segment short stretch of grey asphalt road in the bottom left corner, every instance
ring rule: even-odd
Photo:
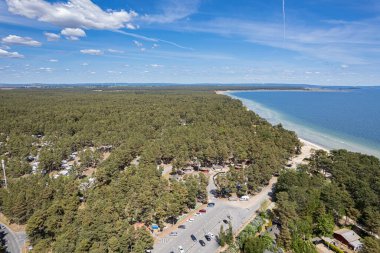
[[[6,246],[6,252],[20,253],[26,241],[25,233],[14,233],[4,224],[0,224],[0,237]]]

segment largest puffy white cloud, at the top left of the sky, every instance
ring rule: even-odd
[[[49,3],[44,0],[6,0],[8,10],[17,15],[59,27],[116,30],[133,29],[131,21],[137,16],[134,11],[102,10],[91,0],[69,0]]]

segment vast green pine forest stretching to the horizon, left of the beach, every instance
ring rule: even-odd
[[[202,173],[168,180],[158,165],[244,161],[249,166],[232,172],[228,187],[251,192],[299,146],[293,132],[207,90],[3,90],[1,212],[27,224],[34,252],[144,252],[153,245],[147,227],[207,201]],[[101,147],[112,147],[106,159]],[[74,153],[81,165],[53,177]],[[96,168],[91,177],[87,167]]]

